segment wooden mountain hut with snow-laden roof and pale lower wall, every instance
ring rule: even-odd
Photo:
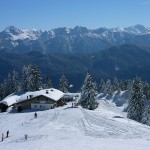
[[[1,101],[0,105],[3,106],[2,111],[6,111],[10,106],[14,106],[18,111],[25,109],[47,110],[63,105],[63,96],[63,92],[50,88],[9,95]]]

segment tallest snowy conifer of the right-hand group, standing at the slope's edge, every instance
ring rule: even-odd
[[[138,122],[141,121],[144,111],[144,99],[145,96],[143,94],[142,81],[138,77],[136,77],[133,80],[130,100],[128,104],[128,118],[136,120]]]

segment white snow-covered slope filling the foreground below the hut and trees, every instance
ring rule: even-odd
[[[99,100],[95,111],[71,108],[0,113],[0,150],[148,150],[150,127],[126,118],[113,103]],[[28,139],[25,140],[25,134]],[[1,136],[1,135],[0,135]]]

